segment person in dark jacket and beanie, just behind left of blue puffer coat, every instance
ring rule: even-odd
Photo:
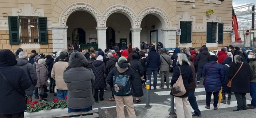
[[[203,80],[204,76],[202,76],[202,70],[206,63],[210,62],[210,53],[207,51],[207,47],[202,48],[202,52],[197,55],[197,84],[200,83],[200,80]],[[218,58],[217,58],[218,59]]]

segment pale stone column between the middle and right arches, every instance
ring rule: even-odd
[[[140,49],[140,31],[142,28],[131,28],[132,31],[132,47],[138,47]]]

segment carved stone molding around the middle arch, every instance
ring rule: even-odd
[[[115,12],[123,13],[125,16],[127,16],[128,19],[131,21],[132,28],[136,26],[137,16],[132,9],[124,5],[114,5],[114,6],[110,6],[109,8],[106,9],[106,11],[104,11],[103,17],[102,17],[102,27],[106,27],[106,20],[112,13],[115,13]]]

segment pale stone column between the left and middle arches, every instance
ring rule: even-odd
[[[102,50],[106,49],[106,29],[108,29],[108,27],[96,27],[98,48],[101,48]]]

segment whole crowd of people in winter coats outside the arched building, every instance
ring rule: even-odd
[[[72,44],[70,44],[72,46]],[[116,48],[117,47],[117,48]],[[72,48],[72,47],[71,47]],[[199,49],[184,48],[181,53],[180,48],[175,48],[174,54],[169,54],[163,48],[163,44],[158,42],[142,42],[140,48],[119,47],[118,44],[113,49],[94,48],[84,49],[76,47],[77,51],[69,53],[68,49],[58,52],[56,58],[51,55],[38,54],[35,50],[28,53],[19,48],[15,54],[10,50],[0,51],[0,80],[1,91],[0,105],[6,106],[3,102],[6,99],[15,101],[13,104],[20,104],[16,109],[12,107],[0,108],[0,116],[23,117],[26,110],[24,98],[28,100],[39,99],[47,101],[42,93],[54,94],[60,100],[66,99],[68,112],[92,110],[94,102],[104,101],[104,91],[112,91],[109,101],[116,102],[117,117],[124,117],[124,105],[130,118],[135,118],[133,102],[141,102],[143,88],[146,80],[150,80],[151,86],[156,90],[157,75],[160,75],[160,88],[172,88],[182,75],[183,85],[186,93],[183,95],[170,94],[175,96],[175,104],[178,117],[201,117],[195,98],[195,88],[203,80],[206,91],[206,109],[210,109],[211,96],[213,94],[214,110],[217,110],[219,91],[222,88],[222,101],[226,103],[225,94],[228,94],[227,103],[230,104],[231,94],[234,93],[237,99],[237,109],[246,110],[256,108],[256,50],[252,50],[247,55],[245,48],[222,47],[218,56],[210,55],[208,48],[204,45]],[[230,49],[230,50],[228,50]],[[16,55],[16,56],[15,56]],[[170,82],[169,74],[173,66],[174,72]],[[8,71],[7,71],[8,70]],[[10,70],[10,71],[9,71]],[[12,73],[16,73],[13,76]],[[153,82],[151,76],[153,73]],[[131,92],[127,94],[116,94],[119,88],[113,84],[113,76],[127,75]],[[244,76],[248,75],[248,76]],[[47,80],[50,80],[48,84]],[[232,80],[232,86],[227,86]],[[166,84],[164,84],[166,82]],[[10,88],[13,84],[15,88]],[[86,85],[86,86],[82,86]],[[49,90],[47,89],[49,87]],[[55,89],[57,91],[55,91]],[[121,89],[121,88],[120,88]],[[11,94],[10,94],[11,93]],[[250,93],[251,104],[246,105],[245,94]],[[32,95],[34,94],[34,98]],[[14,100],[19,99],[19,100]],[[190,106],[194,109],[191,115]]]

